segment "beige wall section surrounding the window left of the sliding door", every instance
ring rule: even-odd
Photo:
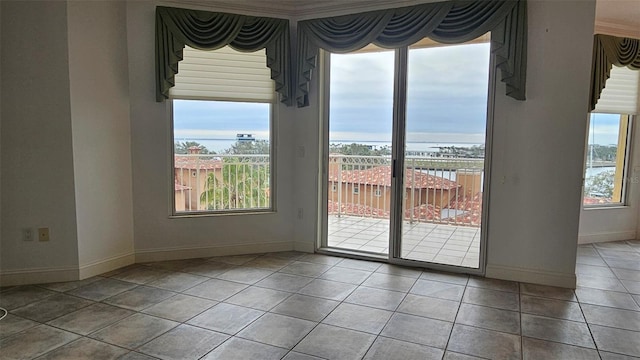
[[[252,215],[172,217],[169,102],[155,100],[155,1],[127,3],[136,261],[293,248],[294,112],[278,113],[277,211]],[[172,3],[172,5],[175,5]],[[189,7],[185,4],[184,7]],[[202,6],[200,7],[202,8]],[[224,11],[224,8],[211,8]]]

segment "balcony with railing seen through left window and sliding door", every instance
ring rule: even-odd
[[[177,213],[270,208],[269,156],[192,152],[175,156]],[[483,159],[408,156],[402,256],[477,267]],[[331,154],[328,246],[388,253],[391,158]]]

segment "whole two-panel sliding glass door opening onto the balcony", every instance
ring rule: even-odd
[[[324,249],[480,267],[489,54],[484,36],[325,58]]]

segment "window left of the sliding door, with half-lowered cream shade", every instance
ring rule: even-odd
[[[170,90],[174,213],[273,209],[273,81],[264,50],[185,48]]]

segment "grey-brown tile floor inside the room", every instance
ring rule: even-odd
[[[640,242],[580,246],[560,289],[296,252],[2,288],[0,358],[640,358]]]

